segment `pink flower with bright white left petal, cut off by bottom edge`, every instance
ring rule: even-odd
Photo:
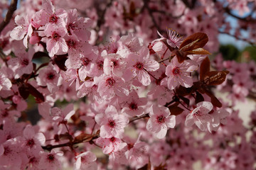
[[[76,159],[75,170],[78,170],[78,169],[97,170],[97,164],[95,162],[97,157],[92,152],[90,151],[82,152],[81,154],[78,154],[78,156],[76,156],[75,159]]]

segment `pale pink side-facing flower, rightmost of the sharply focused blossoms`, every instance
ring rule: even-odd
[[[208,113],[213,109],[213,104],[208,101],[202,101],[197,103],[196,106],[198,107],[186,116],[185,125],[192,126],[196,123],[196,126],[200,130],[204,131],[208,129],[211,132],[213,116]]]

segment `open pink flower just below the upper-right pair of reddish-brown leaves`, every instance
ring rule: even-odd
[[[193,60],[185,60],[179,63],[177,58],[174,57],[171,63],[166,67],[166,78],[161,81],[161,85],[167,84],[168,88],[173,90],[179,84],[186,88],[193,85],[191,72],[198,69],[198,64]]]

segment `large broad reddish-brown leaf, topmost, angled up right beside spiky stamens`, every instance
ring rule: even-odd
[[[194,33],[183,40],[179,49],[185,52],[192,51],[205,46],[207,42],[208,36],[206,33]]]

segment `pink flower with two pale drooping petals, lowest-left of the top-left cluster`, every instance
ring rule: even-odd
[[[49,25],[45,30],[46,36],[46,49],[49,52],[49,56],[63,55],[68,52],[68,45],[63,38],[67,30],[63,28],[58,28],[53,25]]]

